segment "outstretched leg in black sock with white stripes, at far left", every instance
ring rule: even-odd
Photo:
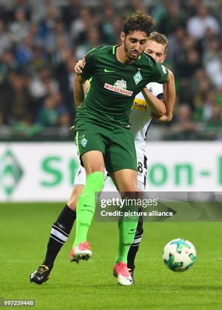
[[[30,275],[30,282],[42,284],[49,279],[56,256],[66,242],[73,223],[76,220],[77,200],[85,185],[85,181],[85,169],[80,166],[73,183],[70,198],[57,220],[52,225],[45,260],[42,265]]]

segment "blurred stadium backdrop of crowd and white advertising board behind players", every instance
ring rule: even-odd
[[[169,39],[177,92],[172,122],[147,135],[147,190],[221,190],[221,0],[0,0],[0,201],[67,199],[74,65],[120,44],[138,9]]]

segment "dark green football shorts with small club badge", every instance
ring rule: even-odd
[[[80,160],[84,153],[98,150],[103,153],[108,173],[121,169],[137,171],[134,135],[129,129],[82,118],[76,121],[75,138]]]

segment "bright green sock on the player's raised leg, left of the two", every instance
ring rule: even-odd
[[[87,232],[95,212],[95,192],[101,191],[103,184],[104,174],[102,172],[96,171],[86,177],[86,185],[77,202],[77,230],[73,248],[87,241]]]

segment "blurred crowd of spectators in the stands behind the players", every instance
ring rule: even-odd
[[[120,44],[136,10],[168,37],[177,91],[173,121],[155,123],[150,138],[222,139],[221,9],[221,0],[0,0],[0,139],[72,139],[75,63]]]

